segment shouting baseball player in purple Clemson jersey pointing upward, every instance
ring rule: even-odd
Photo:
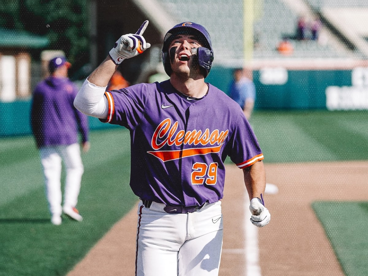
[[[130,186],[140,198],[136,275],[218,275],[224,160],[230,156],[243,169],[251,221],[262,227],[270,220],[262,201],[263,154],[240,106],[205,82],[213,50],[206,29],[194,22],[164,37],[169,80],[105,92],[121,62],[151,46],[142,36],[147,25],[117,40],[74,105],[130,130]]]

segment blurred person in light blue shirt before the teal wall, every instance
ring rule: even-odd
[[[236,68],[233,71],[229,96],[241,106],[245,117],[249,120],[254,108],[255,85],[250,78],[245,76],[243,68]]]

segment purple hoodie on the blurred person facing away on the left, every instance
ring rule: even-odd
[[[48,77],[33,91],[31,127],[38,148],[49,145],[71,145],[88,141],[87,116],[75,109],[78,92],[68,78]]]

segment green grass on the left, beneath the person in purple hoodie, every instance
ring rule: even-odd
[[[32,137],[0,139],[0,275],[65,275],[137,201],[129,187],[130,138],[91,132],[78,208],[81,223],[50,223]]]

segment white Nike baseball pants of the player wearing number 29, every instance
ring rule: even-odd
[[[221,201],[185,214],[163,204],[138,205],[137,276],[217,276],[222,250]]]

